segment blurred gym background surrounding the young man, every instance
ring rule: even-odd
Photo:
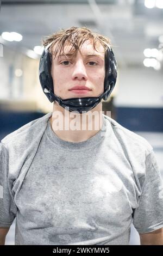
[[[3,0],[0,139],[52,111],[39,83],[41,41],[71,26],[86,26],[111,39],[118,78],[103,111],[151,143],[163,178],[162,0]],[[14,231],[12,224],[7,245],[14,244]],[[130,244],[140,244],[134,227]]]

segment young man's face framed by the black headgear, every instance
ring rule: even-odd
[[[52,60],[54,94],[61,99],[72,97],[97,97],[104,92],[105,52],[101,44],[96,51],[91,41],[85,41],[80,51],[70,53],[71,46],[64,48],[66,54]],[[55,50],[55,46],[54,49]]]

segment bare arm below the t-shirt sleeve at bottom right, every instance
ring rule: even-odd
[[[141,245],[163,245],[163,228],[139,235]]]

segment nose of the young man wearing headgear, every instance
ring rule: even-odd
[[[86,68],[82,60],[78,60],[74,65],[72,78],[73,80],[87,80]]]

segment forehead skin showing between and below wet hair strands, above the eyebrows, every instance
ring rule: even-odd
[[[96,48],[93,47],[93,42],[91,40],[85,41],[81,46],[80,46],[80,52],[82,55],[99,55],[103,56],[105,55],[105,49],[104,47],[100,44],[100,42],[96,42]],[[59,56],[59,51],[57,49],[57,45],[53,46],[53,52],[57,50],[57,56]],[[59,49],[60,50],[60,49]],[[63,50],[60,52],[60,54],[65,53],[68,54],[70,52],[75,52],[74,47],[72,47],[72,44],[66,43],[64,45]]]

